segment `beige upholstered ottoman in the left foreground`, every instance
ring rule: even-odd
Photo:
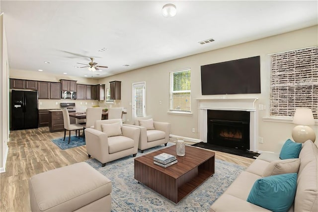
[[[110,212],[111,181],[85,162],[29,179],[32,212]]]

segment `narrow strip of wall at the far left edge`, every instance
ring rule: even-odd
[[[8,152],[8,54],[4,30],[4,15],[0,15],[0,172],[5,171],[5,161]]]

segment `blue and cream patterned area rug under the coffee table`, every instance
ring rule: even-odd
[[[174,145],[168,143],[168,146]],[[138,152],[137,157],[156,151],[164,146]],[[85,161],[112,181],[112,212],[207,212],[238,175],[245,170],[236,164],[215,159],[215,174],[178,204],[134,179],[134,157],[128,156],[106,163],[95,159]]]

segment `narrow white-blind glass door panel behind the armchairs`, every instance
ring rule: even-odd
[[[134,117],[143,117],[145,116],[145,84],[134,84]]]

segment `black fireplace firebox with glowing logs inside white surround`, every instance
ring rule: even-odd
[[[207,142],[235,149],[249,149],[249,111],[207,111]]]

